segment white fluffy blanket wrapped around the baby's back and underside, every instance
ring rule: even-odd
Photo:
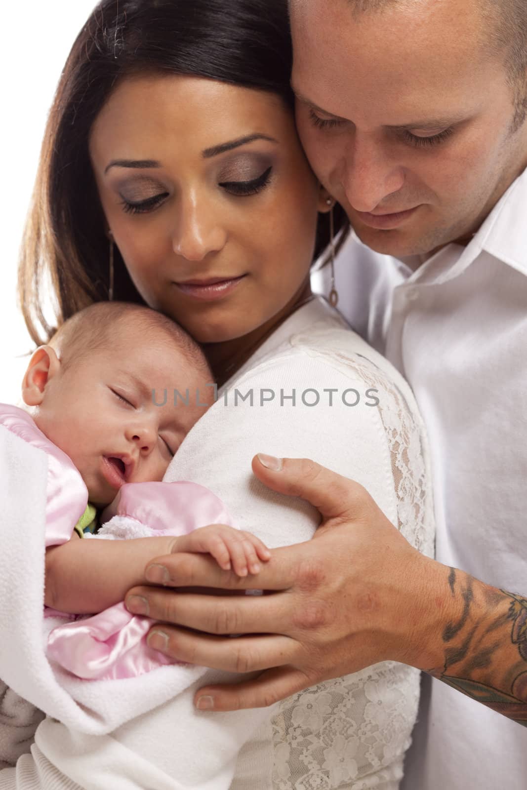
[[[51,666],[45,638],[62,621],[43,619],[46,481],[46,454],[0,427],[0,634],[9,634],[0,645],[0,678],[48,716],[103,735],[179,694],[205,669],[176,665],[88,683]]]

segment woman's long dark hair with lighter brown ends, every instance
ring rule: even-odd
[[[116,85],[145,73],[209,77],[275,93],[293,107],[287,0],[103,0],[73,44],[44,134],[25,229],[19,298],[29,333],[55,327],[40,294],[51,280],[61,325],[107,299],[108,239],[88,138]],[[333,209],[338,231],[348,220]],[[345,231],[344,231],[345,232]],[[315,259],[329,242],[321,215]],[[142,303],[115,250],[115,299]]]

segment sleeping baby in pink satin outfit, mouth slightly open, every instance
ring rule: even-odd
[[[146,645],[150,622],[119,603],[131,587],[145,583],[152,559],[175,551],[209,552],[240,576],[258,573],[259,562],[269,559],[266,547],[249,533],[209,526],[228,521],[212,492],[194,483],[156,482],[212,403],[211,382],[198,344],[169,318],[137,305],[98,303],[70,318],[32,355],[22,385],[25,410],[0,404],[0,430],[12,431],[48,456],[47,611],[101,612],[51,630],[51,657],[78,677],[139,675],[168,663]],[[175,390],[181,396],[176,400]],[[101,510],[102,521],[118,514],[101,530],[109,531],[107,538],[130,537],[130,524],[142,528],[139,534],[155,530],[156,536],[79,540],[92,537]],[[126,530],[112,535],[119,517]],[[96,618],[100,622],[90,636]],[[63,633],[71,628],[79,633]],[[120,656],[114,636],[126,628],[120,644],[128,652]],[[104,629],[110,647],[102,655]],[[94,674],[90,645],[98,651]],[[0,683],[0,768],[27,751],[42,716]]]

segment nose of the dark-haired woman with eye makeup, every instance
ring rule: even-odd
[[[172,240],[176,255],[187,261],[202,261],[209,253],[219,252],[227,233],[208,201],[192,196],[179,207],[179,220]]]

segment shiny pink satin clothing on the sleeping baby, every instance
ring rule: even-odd
[[[0,404],[0,425],[47,453],[46,547],[70,540],[74,526],[88,503],[88,490],[70,457],[59,450],[20,408]],[[183,535],[209,524],[231,524],[223,503],[197,483],[126,483],[111,506],[103,538]],[[112,531],[112,525],[115,529]],[[130,534],[127,534],[127,527]],[[97,537],[90,540],[99,540]],[[71,621],[72,615],[49,610],[48,615]],[[74,616],[74,615],[73,615]],[[146,634],[153,621],[131,615],[116,604],[98,615],[77,617],[51,631],[48,656],[73,675],[84,679],[137,677],[174,663],[149,648]]]

